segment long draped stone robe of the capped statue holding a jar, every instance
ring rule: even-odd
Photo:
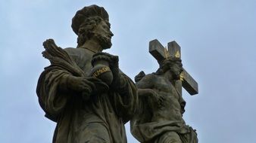
[[[83,48],[45,49],[43,55],[52,64],[40,75],[36,93],[45,117],[57,123],[53,142],[125,143],[124,124],[131,119],[137,106],[133,81],[121,74],[124,83],[119,90],[106,88],[105,92],[94,94],[85,101],[79,93],[62,92],[58,86],[63,76],[88,76],[94,53]]]

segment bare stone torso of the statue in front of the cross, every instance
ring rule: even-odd
[[[184,122],[180,105],[182,97],[164,75],[146,75],[136,85],[140,89],[154,90],[155,94],[148,96],[148,106],[152,112],[151,121],[179,120]]]

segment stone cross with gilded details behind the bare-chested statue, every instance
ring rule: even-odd
[[[149,53],[158,60],[158,63],[164,61],[168,56],[175,56],[177,58],[181,58],[180,46],[176,43],[176,41],[171,41],[168,43],[168,50],[164,48],[164,46],[157,40],[153,40],[149,42]],[[183,72],[180,75],[181,79],[176,81],[175,87],[176,90],[182,94],[182,87],[190,95],[198,94],[198,83],[189,75],[189,73],[183,68]]]

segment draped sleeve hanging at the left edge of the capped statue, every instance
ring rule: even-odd
[[[64,110],[70,100],[68,92],[62,92],[59,85],[69,73],[54,67],[45,68],[39,77],[36,93],[39,97],[39,104],[45,111],[45,117],[51,120],[58,120],[59,114]]]

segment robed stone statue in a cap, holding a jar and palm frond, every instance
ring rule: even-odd
[[[72,20],[76,48],[44,42],[42,53],[51,65],[36,88],[45,117],[57,123],[54,143],[126,142],[124,124],[138,106],[137,89],[118,68],[118,56],[103,53],[111,47],[108,13],[91,5]]]

